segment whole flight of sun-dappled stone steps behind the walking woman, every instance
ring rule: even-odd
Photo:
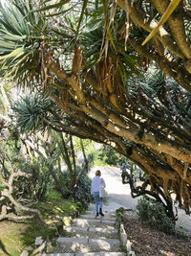
[[[41,256],[125,256],[118,240],[116,213],[107,212],[95,217],[93,210],[86,212],[72,224],[64,226],[65,237],[59,237],[53,252]]]

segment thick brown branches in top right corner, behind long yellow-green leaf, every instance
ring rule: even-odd
[[[187,91],[191,91],[189,33],[191,5],[189,1],[179,2],[180,5],[169,17],[167,23],[160,27],[159,33],[146,47],[142,47],[141,43],[145,39],[146,33],[151,32],[158,25],[159,17],[167,10],[169,1],[164,0],[160,3],[158,0],[149,2],[128,0],[131,25],[139,29],[139,36],[137,38],[130,36],[129,43],[141,58],[147,61],[156,61],[166,75],[172,77]],[[117,4],[126,10],[124,0],[117,0]]]

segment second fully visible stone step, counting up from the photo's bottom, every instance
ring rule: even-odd
[[[66,226],[64,230],[69,232],[69,237],[117,238],[117,229],[114,227]]]

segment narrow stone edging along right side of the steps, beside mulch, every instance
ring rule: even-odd
[[[120,244],[125,250],[127,250],[127,256],[136,256],[135,251],[132,250],[131,242],[127,238],[126,231],[124,229],[124,225],[122,223],[122,211],[120,208],[117,211],[117,228],[118,228],[118,237]],[[123,209],[124,210],[124,209]]]

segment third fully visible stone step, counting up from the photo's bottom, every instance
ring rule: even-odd
[[[95,219],[74,219],[73,220],[73,225],[78,225],[78,226],[114,226],[116,221],[107,221],[104,220],[104,218],[95,218]]]

